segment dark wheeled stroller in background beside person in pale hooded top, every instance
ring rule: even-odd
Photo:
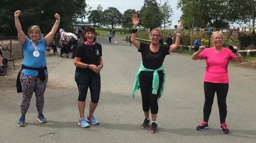
[[[76,48],[78,46],[78,40],[75,38],[71,38],[67,44],[65,52],[62,54],[63,58],[74,58],[76,55]]]

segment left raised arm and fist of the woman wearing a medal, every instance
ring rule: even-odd
[[[20,25],[20,20],[19,20],[19,16],[21,14],[20,10],[17,10],[14,12],[14,20],[15,20],[15,27],[18,31],[18,38],[19,38],[19,42],[21,45],[23,45],[26,41],[26,34],[22,31],[21,25]]]

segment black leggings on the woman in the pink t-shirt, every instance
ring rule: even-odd
[[[227,115],[226,97],[228,94],[228,83],[211,83],[204,81],[204,121],[208,122],[209,120],[215,92],[219,106],[219,118],[221,123],[224,123]]]

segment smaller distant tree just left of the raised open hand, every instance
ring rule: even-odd
[[[124,28],[129,27],[129,31],[130,31],[131,27],[133,26],[132,16],[135,13],[138,13],[138,11],[136,12],[135,9],[127,9],[126,11],[124,11],[123,20],[122,20],[122,27],[124,27]]]

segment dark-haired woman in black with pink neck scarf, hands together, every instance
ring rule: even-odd
[[[102,47],[96,43],[95,29],[87,27],[83,34],[85,41],[76,49],[74,65],[76,65],[75,81],[78,87],[78,110],[80,118],[78,125],[81,127],[89,127],[87,122],[98,124],[98,120],[94,118],[93,112],[98,105],[100,98],[100,71],[103,67]],[[88,87],[91,92],[91,103],[89,114],[84,117],[85,98]]]

